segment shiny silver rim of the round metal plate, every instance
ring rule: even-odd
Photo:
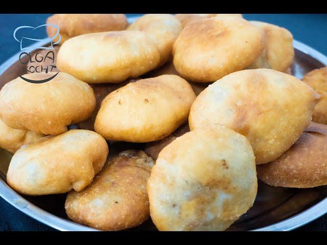
[[[129,22],[133,22],[139,16],[129,17]],[[45,45],[49,40],[39,41],[27,49],[27,52],[33,51],[38,46]],[[294,48],[297,50],[310,55],[316,60],[320,61],[323,65],[327,66],[327,57],[310,47],[307,44],[304,44],[300,41],[293,40]],[[2,65],[0,65],[0,76],[10,68],[19,57],[20,52],[13,55],[7,61],[5,61]],[[10,186],[6,184],[6,182],[0,179],[0,197],[6,200],[9,204],[17,208],[19,211],[27,214],[28,216],[38,220],[39,222],[48,225],[54,229],[59,231],[99,231],[97,229],[93,229],[87,226],[79,225],[77,223],[72,222],[71,220],[64,219],[58,217],[48,211],[45,211],[38,206],[32,204],[27,201],[25,198],[21,197],[18,192],[14,191]],[[298,227],[308,224],[313,220],[319,218],[323,214],[327,213],[327,197],[315,204],[314,206],[296,214],[289,218],[283,219],[280,222],[275,224],[265,226],[262,228],[249,230],[249,231],[290,231],[294,230]],[[303,219],[305,221],[303,221]]]

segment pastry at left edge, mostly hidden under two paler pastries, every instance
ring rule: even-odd
[[[0,148],[8,152],[15,153],[23,144],[34,143],[43,136],[29,130],[10,128],[0,120]]]

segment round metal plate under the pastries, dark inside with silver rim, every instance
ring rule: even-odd
[[[130,18],[129,22],[134,21]],[[44,45],[38,43],[37,45]],[[30,51],[35,49],[30,48]],[[294,40],[295,59],[292,75],[301,79],[308,71],[327,66],[327,57],[313,48]],[[19,54],[0,66],[0,88],[21,75]],[[115,143],[110,153],[125,149],[142,149],[143,144]],[[12,154],[0,149],[0,196],[11,205],[48,226],[61,231],[96,231],[68,220],[64,210],[66,194],[29,197],[20,195],[6,183],[6,173]],[[259,181],[254,205],[228,230],[288,231],[320,217],[327,212],[327,186],[309,189],[272,187]],[[156,230],[151,218],[130,230]]]

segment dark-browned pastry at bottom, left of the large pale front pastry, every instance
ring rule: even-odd
[[[105,231],[142,224],[150,215],[146,184],[153,165],[143,151],[124,151],[109,159],[89,186],[68,193],[68,217]]]

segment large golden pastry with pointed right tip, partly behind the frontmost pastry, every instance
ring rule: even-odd
[[[319,99],[310,86],[283,72],[234,72],[209,85],[192,105],[190,129],[224,125],[251,142],[256,164],[281,156],[311,121]]]

